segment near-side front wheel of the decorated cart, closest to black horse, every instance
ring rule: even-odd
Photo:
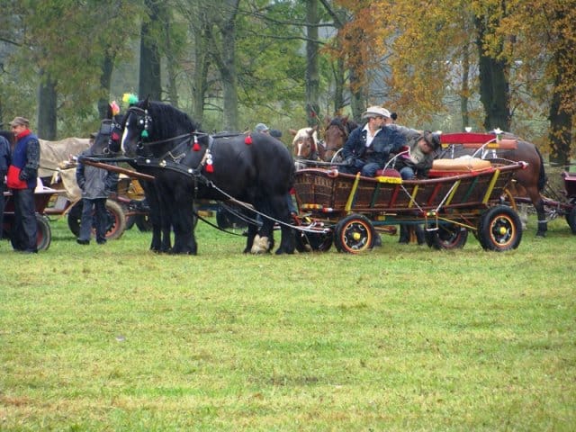
[[[338,252],[358,254],[374,246],[374,226],[361,214],[350,214],[340,220],[334,231],[334,244]]]

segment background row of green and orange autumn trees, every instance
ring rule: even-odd
[[[512,130],[570,161],[576,0],[0,0],[0,121],[87,136],[149,95],[204,130],[284,131],[368,104]],[[572,155],[573,156],[573,155]]]

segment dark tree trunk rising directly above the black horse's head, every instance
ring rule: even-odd
[[[158,4],[147,0],[149,21],[144,20],[140,31],[140,65],[138,95],[140,99],[149,96],[151,100],[159,101],[162,97],[162,79],[160,73],[160,54],[157,49],[157,35],[152,26],[159,19]]]

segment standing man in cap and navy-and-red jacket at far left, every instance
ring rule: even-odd
[[[16,145],[12,165],[8,167],[6,184],[14,196],[14,250],[25,253],[38,252],[36,242],[36,206],[34,189],[40,166],[40,142],[30,130],[30,121],[16,117],[10,122]]]

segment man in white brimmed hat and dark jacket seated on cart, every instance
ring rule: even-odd
[[[362,114],[365,123],[350,132],[342,156],[347,166],[340,171],[373,177],[382,169],[391,152],[397,151],[405,139],[401,133],[392,128],[390,112],[381,106],[371,106]]]

